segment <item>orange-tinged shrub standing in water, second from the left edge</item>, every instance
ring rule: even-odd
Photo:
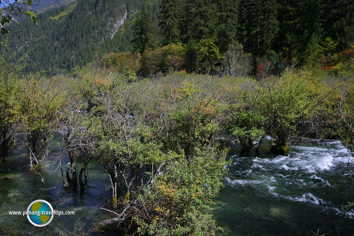
[[[40,168],[48,155],[52,131],[58,127],[59,110],[65,102],[64,87],[58,83],[49,83],[38,76],[23,80],[20,111],[30,170]]]

